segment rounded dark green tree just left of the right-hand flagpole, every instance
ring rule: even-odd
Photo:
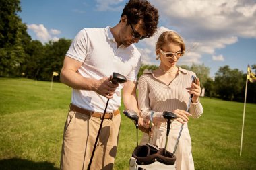
[[[214,87],[222,99],[233,101],[241,96],[245,83],[243,71],[230,69],[228,65],[220,67],[215,74]]]

